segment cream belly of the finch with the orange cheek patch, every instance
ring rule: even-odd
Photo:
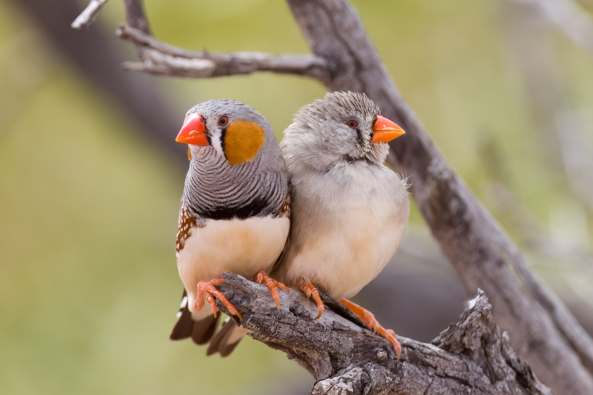
[[[220,278],[225,271],[253,280],[258,271],[269,271],[284,248],[289,225],[286,217],[251,217],[210,220],[205,227],[193,227],[177,254],[177,268],[194,319],[212,314],[210,309],[195,311],[199,281]]]

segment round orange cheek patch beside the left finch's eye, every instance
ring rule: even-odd
[[[256,123],[234,120],[224,136],[224,152],[229,165],[240,165],[256,157],[263,146],[266,131]]]

